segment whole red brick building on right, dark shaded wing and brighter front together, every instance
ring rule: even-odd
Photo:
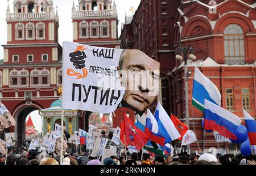
[[[157,26],[156,35],[151,34],[154,28],[144,19],[148,10],[150,15],[154,14],[150,10],[152,3],[155,18],[147,19],[156,22],[150,23]],[[201,149],[217,147],[217,144],[213,133],[206,133],[203,143],[203,113],[192,106],[193,67],[199,67],[217,85],[222,95],[222,108],[243,119],[243,107],[252,117],[256,117],[256,3],[253,0],[216,1],[215,8],[211,8],[212,4],[208,3],[209,1],[142,1],[132,22],[124,25],[121,35],[122,47],[142,49],[161,62],[162,74],[168,72],[164,78],[167,84],[162,84],[162,97],[167,99],[162,99],[164,108],[181,119],[185,118],[184,63],[175,60],[175,49],[177,46],[192,46],[195,49],[196,61],[188,61],[188,70],[192,72],[188,78],[189,124],[191,130],[195,125]],[[175,6],[173,10],[171,6]],[[165,8],[168,9],[164,10]],[[161,28],[164,15],[167,19],[170,18],[169,25],[164,28],[169,31],[168,35],[163,35]],[[145,27],[139,28],[139,24]],[[154,52],[147,50],[150,47],[146,45],[152,45],[152,41],[147,42],[147,36],[155,38],[155,49],[164,48],[161,41],[164,41],[164,36],[169,38],[166,40],[170,42],[168,45],[172,51],[165,53],[168,59],[161,59],[160,54],[156,57],[151,54]],[[162,42],[164,43],[167,42]],[[228,147],[228,144],[225,145]],[[192,149],[197,148],[196,143],[191,146]],[[220,147],[223,148],[224,144],[221,143]]]

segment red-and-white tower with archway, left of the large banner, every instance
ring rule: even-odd
[[[62,49],[53,0],[15,0],[13,5],[13,12],[9,5],[6,11],[7,45],[3,45],[0,65],[0,98],[17,123],[10,132],[24,143],[26,116],[48,108],[59,98]]]

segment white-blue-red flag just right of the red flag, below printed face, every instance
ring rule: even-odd
[[[147,109],[145,133],[150,140],[164,146],[164,136],[160,132],[158,122],[149,109]]]

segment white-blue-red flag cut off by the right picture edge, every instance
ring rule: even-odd
[[[256,121],[243,109],[243,115],[245,117],[245,124],[248,132],[248,137],[251,145],[256,145]]]

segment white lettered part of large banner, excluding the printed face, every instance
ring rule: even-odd
[[[63,42],[63,108],[115,111],[125,93],[117,71],[122,51]]]

